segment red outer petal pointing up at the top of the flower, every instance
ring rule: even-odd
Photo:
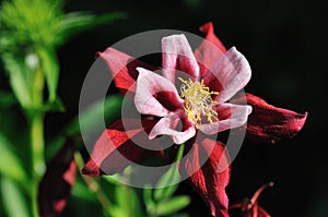
[[[203,76],[220,57],[226,52],[226,49],[215,36],[213,24],[211,22],[200,26],[199,29],[207,34],[204,40],[195,50],[195,57],[198,61],[201,75]]]

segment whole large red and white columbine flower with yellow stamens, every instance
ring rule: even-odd
[[[96,142],[83,172],[99,176],[101,167],[106,168],[106,173],[121,172],[128,164],[119,160],[118,152],[132,161],[159,155],[134,144],[133,137],[152,143],[156,136],[168,135],[176,144],[185,143],[189,150],[180,161],[179,172],[189,176],[189,183],[213,216],[229,216],[229,156],[224,144],[209,136],[247,128],[249,136],[273,142],[298,132],[306,113],[276,108],[249,94],[248,105],[242,105],[238,97],[232,98],[248,83],[249,64],[236,48],[226,51],[211,23],[200,29],[207,34],[206,40],[194,53],[184,35],[163,38],[161,75],[152,71],[154,68],[116,49],[98,53],[112,71],[116,87],[133,98],[137,110],[145,116],[141,124],[134,119],[112,124]],[[122,122],[128,122],[129,129]],[[140,133],[143,130],[147,135]],[[207,160],[201,164],[203,158]]]

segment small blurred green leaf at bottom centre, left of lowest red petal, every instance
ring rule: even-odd
[[[160,216],[171,215],[177,213],[188,206],[190,203],[189,196],[176,196],[168,201],[157,204],[156,214]]]

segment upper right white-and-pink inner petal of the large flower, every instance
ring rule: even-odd
[[[214,63],[203,80],[210,89],[220,93],[215,100],[221,104],[241,91],[250,80],[250,74],[248,61],[233,47]]]

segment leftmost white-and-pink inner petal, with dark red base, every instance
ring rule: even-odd
[[[138,68],[137,70],[139,71],[139,77],[137,80],[134,104],[140,113],[164,117],[171,112],[171,107],[165,108],[165,105],[183,106],[183,99],[179,98],[173,83],[145,69]],[[165,96],[169,96],[169,98],[156,98],[163,93],[165,93]]]

